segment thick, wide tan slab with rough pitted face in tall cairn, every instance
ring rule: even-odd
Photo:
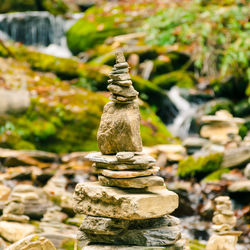
[[[98,182],[79,183],[74,193],[76,213],[118,219],[164,216],[178,207],[178,195],[166,188],[138,192],[105,187]]]

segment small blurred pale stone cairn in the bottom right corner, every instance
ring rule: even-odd
[[[215,198],[215,212],[212,230],[214,234],[208,241],[206,250],[234,250],[240,231],[232,231],[236,225],[236,217],[228,196]]]

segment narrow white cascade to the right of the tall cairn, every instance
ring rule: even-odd
[[[195,117],[198,105],[185,100],[181,96],[181,89],[176,86],[171,88],[167,94],[179,111],[173,123],[168,125],[168,129],[174,136],[184,139],[189,134],[191,122]]]

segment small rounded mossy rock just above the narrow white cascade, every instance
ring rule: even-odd
[[[173,86],[192,88],[195,85],[195,78],[192,73],[179,70],[157,76],[153,79],[153,83],[167,90],[171,89]]]

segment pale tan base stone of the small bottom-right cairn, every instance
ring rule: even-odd
[[[233,235],[212,235],[209,239],[206,250],[235,250],[237,236]]]

